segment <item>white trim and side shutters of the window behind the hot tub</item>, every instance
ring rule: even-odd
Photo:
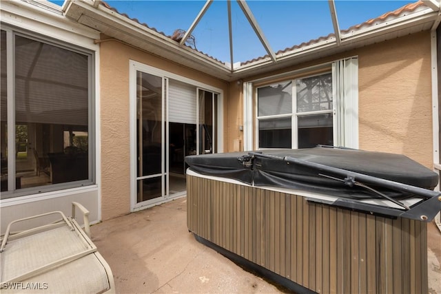
[[[331,68],[333,75],[333,96],[334,96],[334,109],[332,110],[334,114],[334,145],[340,147],[349,147],[353,149],[358,149],[358,57],[353,56],[347,59],[340,59],[331,63],[325,63],[321,65],[316,65],[313,67],[306,67],[301,70],[295,70],[292,72],[286,72],[283,74],[278,74],[275,76],[268,76],[266,78],[259,78],[256,80],[248,81],[243,83],[243,147],[244,151],[252,151],[254,149],[258,149],[258,119],[257,116],[253,119],[253,114],[257,113],[257,103],[255,105],[255,109],[252,107],[253,101],[257,99],[257,92],[254,93],[254,83],[261,83],[268,81],[271,84],[271,80],[275,80],[278,78],[287,77],[294,75],[305,74],[308,76],[308,72],[312,72],[314,70]],[[310,75],[309,75],[310,76]],[[338,92],[336,80],[340,81],[338,83]],[[295,85],[293,85],[295,87]],[[341,90],[340,90],[341,88]],[[295,88],[294,88],[295,90]],[[294,91],[293,90],[293,91]],[[336,98],[338,94],[338,98]],[[342,99],[344,98],[344,99]],[[339,100],[342,105],[336,105],[336,102]],[[294,112],[294,99],[293,99],[293,114]],[[342,107],[344,111],[338,109],[338,107]],[[337,121],[338,119],[338,121]],[[293,115],[292,118],[292,126],[297,127],[297,116]],[[339,123],[340,127],[336,125]],[[253,127],[256,126],[254,132],[254,138],[256,138],[256,142],[253,144]],[[339,132],[336,132],[336,131]],[[341,132],[340,132],[341,131]],[[293,132],[294,138],[292,138],[292,146],[297,147],[297,130]],[[295,134],[294,134],[295,133]]]

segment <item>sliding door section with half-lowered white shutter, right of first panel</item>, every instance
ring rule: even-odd
[[[172,80],[169,92],[167,180],[168,192],[174,196],[185,193],[185,156],[217,152],[218,95]]]

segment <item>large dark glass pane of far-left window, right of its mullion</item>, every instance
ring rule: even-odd
[[[88,180],[89,56],[15,36],[19,187]]]

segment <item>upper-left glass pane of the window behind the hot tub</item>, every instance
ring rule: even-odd
[[[290,114],[292,112],[292,83],[277,83],[257,89],[258,116]]]

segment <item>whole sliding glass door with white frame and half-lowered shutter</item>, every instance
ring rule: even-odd
[[[218,151],[218,94],[155,71],[135,72],[132,205],[138,209],[184,195],[185,156]]]

